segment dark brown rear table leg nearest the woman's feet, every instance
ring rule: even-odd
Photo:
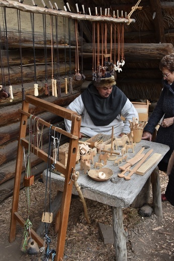
[[[152,183],[152,192],[153,192],[153,211],[156,216],[163,217],[158,167],[156,167],[151,174],[151,183]]]

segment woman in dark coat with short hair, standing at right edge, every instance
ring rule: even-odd
[[[144,128],[142,139],[151,141],[152,134],[155,131],[155,126],[163,117],[155,138],[155,142],[162,143],[170,147],[170,150],[166,153],[166,155],[158,164],[159,170],[166,171],[169,158],[174,150],[174,53],[170,55],[165,55],[161,59],[159,69],[162,72],[163,89],[156,104],[156,107],[154,108],[152,114],[149,117],[148,123]],[[162,200],[166,200],[165,195],[163,195]]]

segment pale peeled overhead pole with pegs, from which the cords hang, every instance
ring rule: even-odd
[[[62,10],[54,10],[50,8],[41,8],[36,6],[29,6],[25,4],[21,4],[17,1],[7,1],[7,0],[0,0],[0,7],[6,8],[13,8],[18,9],[23,12],[28,13],[36,13],[36,14],[45,14],[57,17],[66,17],[75,20],[88,20],[93,22],[110,22],[110,23],[122,23],[122,24],[130,24],[135,23],[135,19],[127,19],[127,18],[114,18],[114,17],[107,17],[107,16],[90,16],[84,14],[74,14]]]

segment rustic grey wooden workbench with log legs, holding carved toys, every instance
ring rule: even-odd
[[[127,160],[134,157],[142,148],[142,146],[150,147],[148,149],[144,149],[143,153],[146,153],[150,149],[153,149],[153,152],[150,156],[152,156],[154,153],[159,153],[161,154],[161,158],[169,150],[169,147],[166,145],[142,140],[140,143],[136,144],[134,153],[132,153],[131,150],[128,152]],[[99,154],[94,157],[94,163],[98,161],[98,159]],[[132,202],[140,194],[150,175],[153,192],[153,210],[157,216],[162,217],[160,180],[159,171],[157,168],[157,164],[160,160],[161,159],[159,159],[153,165],[153,167],[151,167],[150,170],[146,172],[143,176],[133,174],[130,180],[119,178],[118,173],[121,173],[121,171],[119,170],[118,165],[114,166],[114,161],[108,161],[105,167],[111,168],[113,170],[112,179],[114,178],[115,183],[112,182],[112,179],[104,182],[95,181],[91,179],[88,174],[83,174],[83,170],[80,170],[80,163],[76,164],[75,171],[79,171],[80,173],[77,182],[81,187],[84,198],[92,199],[103,204],[112,206],[113,230],[117,261],[127,261],[127,235],[123,228],[123,208],[128,207],[132,204]],[[124,164],[125,161],[123,161],[123,163],[119,166],[122,166]],[[94,169],[94,165],[91,166],[91,169]],[[44,182],[46,179],[46,173],[46,171],[44,171],[43,173]],[[55,188],[56,190],[63,191],[64,178],[52,172],[51,186],[52,189]],[[72,189],[72,194],[78,194],[75,188]]]

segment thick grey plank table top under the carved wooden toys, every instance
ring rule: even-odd
[[[147,153],[150,149],[153,149],[151,157],[154,153],[161,154],[161,159],[169,150],[169,147],[163,144],[149,142],[141,140],[140,143],[137,143],[134,147],[134,153],[131,150],[127,153],[128,159],[133,158],[137,152],[142,148],[142,146],[149,146],[150,148],[144,149],[143,153]],[[148,157],[148,159],[149,159]],[[98,162],[99,154],[94,157],[94,163]],[[147,159],[147,160],[148,160]],[[89,177],[88,174],[84,174],[83,170],[80,170],[80,163],[76,164],[75,171],[79,171],[80,175],[77,180],[78,185],[81,187],[82,194],[84,198],[89,198],[98,202],[101,202],[106,205],[125,208],[131,205],[136,196],[139,194],[147,179],[151,175],[154,168],[160,162],[159,159],[153,167],[150,168],[143,176],[133,174],[130,180],[125,180],[124,178],[119,178],[118,174],[121,173],[119,166],[123,166],[126,162],[123,161],[119,166],[114,166],[114,161],[107,161],[105,167],[111,168],[113,170],[112,178],[115,179],[116,183],[112,182],[112,179],[107,181],[95,181]],[[134,168],[136,165],[132,166]],[[91,169],[94,169],[94,165],[91,165]],[[47,171],[43,172],[43,181],[46,180]],[[126,174],[127,175],[127,174]],[[51,189],[56,189],[63,191],[64,178],[60,175],[57,175],[51,172]],[[78,194],[73,186],[72,194]]]

